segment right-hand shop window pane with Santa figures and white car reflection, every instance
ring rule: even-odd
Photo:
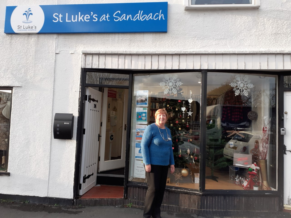
[[[207,73],[205,189],[277,190],[276,83]]]

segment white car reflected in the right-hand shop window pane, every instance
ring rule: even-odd
[[[262,133],[253,133],[250,131],[239,131],[224,146],[223,156],[233,160],[233,154],[253,154],[255,146],[258,146]]]

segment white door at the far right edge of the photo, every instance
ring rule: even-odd
[[[284,144],[291,151],[291,92],[284,92]],[[279,133],[280,134],[280,133]],[[286,151],[284,155],[284,207],[291,209],[291,153]]]

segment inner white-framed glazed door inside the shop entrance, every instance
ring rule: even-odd
[[[125,167],[128,89],[104,88],[98,172]]]

